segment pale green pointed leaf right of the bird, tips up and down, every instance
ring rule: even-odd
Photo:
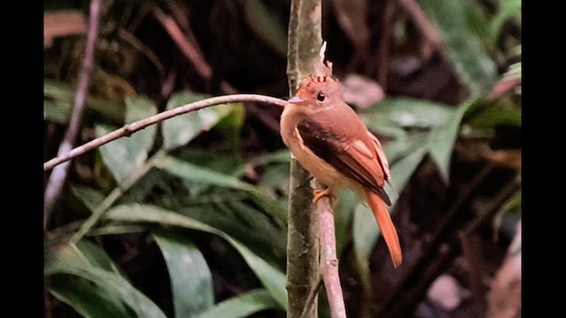
[[[444,182],[448,182],[448,172],[450,170],[450,159],[458,132],[460,131],[460,123],[463,115],[470,107],[472,102],[463,102],[452,118],[446,125],[441,125],[432,129],[428,137],[428,148],[432,156],[432,160],[439,167],[440,177]]]

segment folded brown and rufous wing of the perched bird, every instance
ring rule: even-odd
[[[301,134],[304,146],[346,177],[377,193],[387,205],[391,205],[383,189],[389,178],[389,167],[379,140],[371,138],[371,133],[367,133],[357,116],[356,119],[343,118],[342,125],[320,124],[336,120],[336,117],[330,118],[333,115],[320,113],[317,114],[317,120],[302,118],[297,131]]]

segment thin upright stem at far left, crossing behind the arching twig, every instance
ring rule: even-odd
[[[74,142],[77,139],[77,135],[80,131],[80,120],[82,118],[82,113],[84,110],[85,98],[88,90],[88,82],[90,80],[90,71],[95,64],[95,45],[96,38],[98,37],[98,24],[102,6],[101,3],[101,0],[92,0],[90,2],[87,47],[85,48],[85,58],[82,61],[82,67],[80,69],[79,87],[77,88],[77,93],[75,95],[73,114],[71,115],[71,119],[69,120],[69,127],[67,128],[63,142],[61,143],[57,151],[58,155],[65,154],[73,148]],[[55,202],[57,201],[57,198],[61,194],[61,190],[65,185],[68,171],[69,163],[65,163],[64,165],[51,172],[50,179],[47,183],[43,197],[44,230],[47,229],[47,225],[50,221],[51,211],[53,210]]]

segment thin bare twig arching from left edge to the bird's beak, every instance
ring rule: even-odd
[[[66,161],[69,161],[78,155],[85,154],[88,151],[98,148],[113,140],[117,140],[125,136],[130,136],[132,133],[138,132],[149,125],[154,125],[159,122],[162,122],[165,119],[186,114],[187,112],[200,110],[205,107],[210,107],[213,105],[218,105],[223,103],[231,103],[231,102],[263,102],[263,103],[270,103],[279,106],[285,106],[285,104],[287,103],[287,101],[281,100],[279,98],[265,96],[265,95],[255,95],[255,94],[225,95],[225,96],[207,98],[205,100],[198,102],[191,102],[188,103],[187,105],[183,105],[174,108],[172,110],[166,110],[157,115],[147,117],[142,120],[138,120],[132,124],[124,125],[122,128],[119,128],[111,133],[105,134],[100,138],[96,138],[96,140],[91,140],[80,147],[74,148],[73,150],[67,152],[64,155],[59,155],[57,156],[57,158],[53,158],[47,163],[43,163],[43,170],[50,170],[53,167],[55,167],[57,164],[65,163]]]

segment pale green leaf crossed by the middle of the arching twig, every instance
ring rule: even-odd
[[[126,123],[128,124],[155,115],[156,112],[155,104],[147,98],[138,97],[126,101]],[[96,136],[101,137],[114,130],[108,125],[96,125]],[[100,148],[103,162],[119,184],[142,168],[148,158],[149,148],[153,145],[155,133],[155,125],[150,125],[128,138],[114,140]]]

